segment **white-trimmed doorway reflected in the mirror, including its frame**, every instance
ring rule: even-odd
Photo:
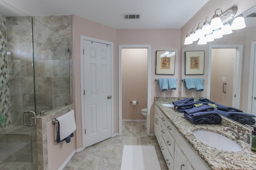
[[[210,45],[208,96],[240,108],[242,45]]]

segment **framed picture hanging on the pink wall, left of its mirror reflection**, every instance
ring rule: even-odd
[[[156,74],[174,75],[175,51],[156,51]]]

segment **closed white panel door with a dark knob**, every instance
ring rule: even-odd
[[[86,147],[111,137],[111,45],[84,40]]]

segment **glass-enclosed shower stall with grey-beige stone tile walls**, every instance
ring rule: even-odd
[[[0,14],[0,30],[0,169],[37,169],[35,116],[72,103],[71,16]]]

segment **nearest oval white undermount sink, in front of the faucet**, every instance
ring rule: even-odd
[[[193,132],[194,137],[211,147],[220,150],[226,150],[230,152],[239,152],[242,147],[238,145],[235,141],[232,141],[228,137],[214,133],[212,131],[198,130]]]

